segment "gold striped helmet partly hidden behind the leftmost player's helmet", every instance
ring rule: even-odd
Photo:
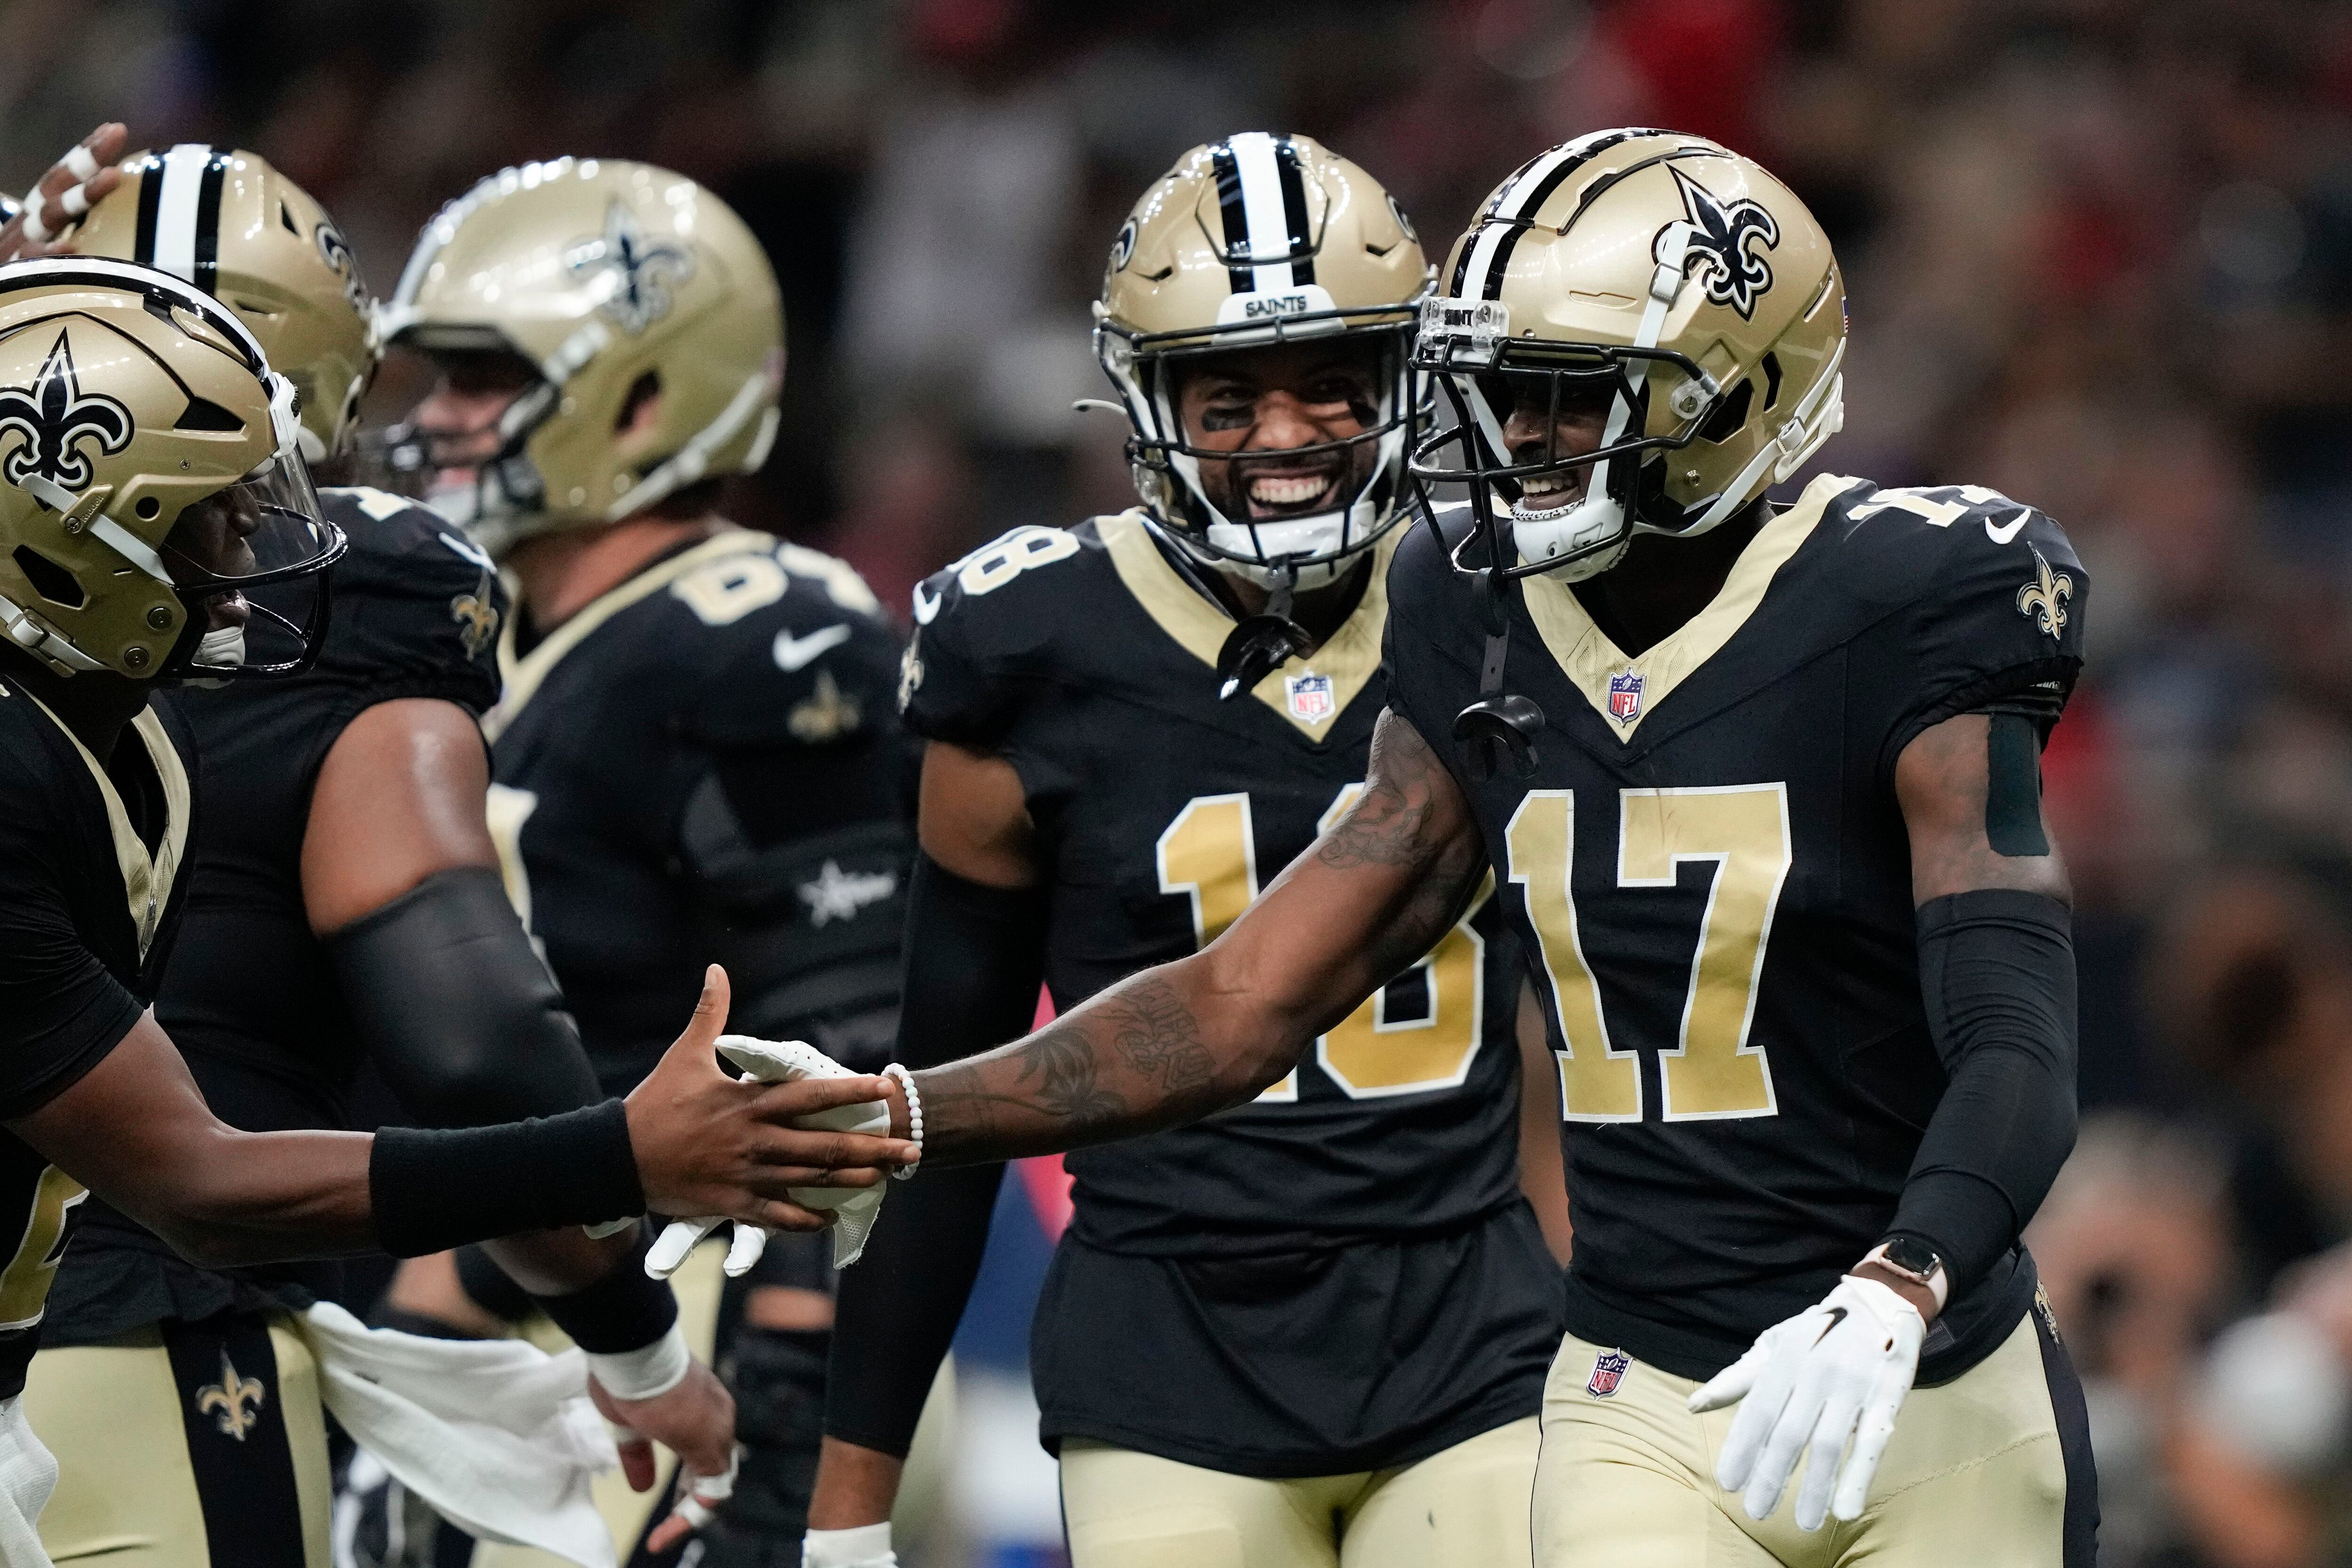
[[[301,393],[303,456],[343,451],[381,357],[376,306],[343,230],[268,160],[202,143],[132,153],[68,244],[162,268],[235,310]]]

